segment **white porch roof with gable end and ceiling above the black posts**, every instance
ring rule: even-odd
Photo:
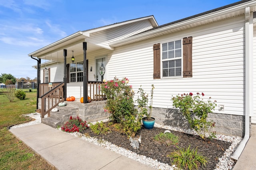
[[[63,61],[63,49],[67,49],[68,56],[72,56],[72,50],[74,51],[74,56],[82,55],[82,43],[85,41],[87,42],[87,52],[96,51],[101,48],[114,50],[113,47],[109,46],[109,43],[157,26],[158,23],[154,16],[146,16],[85,31],[78,31],[46,47],[38,49],[28,54],[28,56],[46,60]],[[126,30],[126,27],[132,29]],[[104,36],[106,34],[108,34],[108,36]]]

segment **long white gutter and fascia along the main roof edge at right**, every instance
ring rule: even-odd
[[[229,8],[225,8],[223,10],[219,10],[219,11],[216,11],[216,12],[212,12],[210,14],[206,14],[206,15],[199,16],[199,17],[196,17],[196,18],[192,18],[190,20],[181,21],[179,23],[174,23],[174,24],[168,25],[166,27],[161,27],[161,28],[158,28],[158,29],[154,29],[152,31],[148,31],[148,32],[145,32],[145,33],[134,35],[132,37],[128,37],[126,39],[122,39],[122,40],[110,43],[109,45],[114,46],[114,45],[117,45],[119,43],[125,43],[126,41],[132,41],[134,39],[139,39],[141,37],[154,35],[156,33],[160,33],[162,31],[166,31],[166,30],[169,30],[169,29],[174,29],[174,28],[177,28],[177,27],[182,27],[184,25],[188,25],[188,24],[208,20],[208,19],[215,18],[215,17],[218,17],[218,16],[223,16],[225,14],[236,12],[238,10],[244,10],[245,7],[251,6],[251,5],[256,6],[255,1],[249,1],[249,2],[246,2],[244,4],[239,4],[237,6],[232,6],[232,7],[229,7]]]

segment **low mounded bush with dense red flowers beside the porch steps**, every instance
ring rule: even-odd
[[[65,132],[80,132],[88,128],[86,121],[82,121],[78,116],[73,118],[70,116],[69,120],[61,127]]]

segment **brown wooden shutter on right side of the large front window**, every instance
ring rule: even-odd
[[[192,37],[183,38],[183,77],[192,77]]]

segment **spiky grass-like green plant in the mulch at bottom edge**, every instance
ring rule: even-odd
[[[198,153],[197,148],[191,150],[190,145],[186,149],[178,147],[178,150],[171,152],[168,157],[170,157],[172,164],[183,170],[198,170],[200,166],[206,167],[209,160],[206,156]]]

